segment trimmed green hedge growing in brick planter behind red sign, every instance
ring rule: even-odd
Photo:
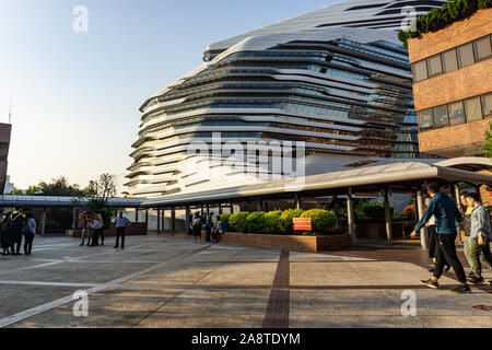
[[[311,218],[314,233],[329,233],[336,224],[333,212],[312,209],[288,209],[270,212],[238,212],[235,214],[222,214],[221,221],[227,222],[230,230],[239,233],[266,233],[266,234],[292,234],[292,219]]]

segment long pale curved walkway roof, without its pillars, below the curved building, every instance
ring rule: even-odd
[[[298,192],[324,192],[328,195],[337,191],[347,192],[352,187],[363,190],[378,191],[390,187],[409,192],[424,180],[441,179],[448,183],[473,183],[492,185],[492,175],[476,173],[470,170],[485,170],[492,167],[492,161],[481,158],[460,158],[425,162],[395,162],[384,165],[368,165],[353,170],[312,175],[302,178],[267,182],[256,185],[246,185],[201,191],[197,194],[166,196],[160,199],[147,200],[143,207],[183,206],[199,202],[213,202],[246,197],[261,197],[271,195],[285,195]],[[413,187],[413,188],[412,188]]]

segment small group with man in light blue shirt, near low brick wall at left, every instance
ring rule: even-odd
[[[80,246],[85,245],[85,237],[87,238],[87,247],[94,247],[104,245],[104,222],[103,217],[99,213],[92,213],[83,211],[79,214],[79,220],[82,224],[82,234]],[[121,240],[121,249],[125,249],[125,228],[130,222],[122,215],[122,212],[114,220],[116,224],[116,245],[114,248],[119,247],[119,241]]]

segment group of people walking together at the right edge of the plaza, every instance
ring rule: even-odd
[[[476,192],[460,194],[464,206],[462,212],[455,201],[446,194],[446,186],[431,183],[426,187],[427,208],[422,219],[417,223],[412,237],[417,236],[424,226],[427,228],[429,256],[434,262],[430,269],[433,276],[421,283],[438,289],[438,279],[445,267],[453,267],[460,285],[453,290],[456,293],[469,293],[469,284],[483,282],[481,276],[481,261],[492,266],[492,254],[490,252],[490,240],[492,238],[489,211],[482,206],[480,195]],[[465,231],[465,256],[471,266],[471,272],[467,276],[459,261],[455,241],[458,234],[459,223],[464,222]]]

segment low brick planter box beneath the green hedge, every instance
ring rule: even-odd
[[[290,236],[227,232],[222,235],[220,243],[317,253],[328,249],[350,248],[352,240],[349,234],[332,236]]]

